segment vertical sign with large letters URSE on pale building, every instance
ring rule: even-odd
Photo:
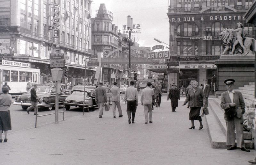
[[[52,38],[59,38],[60,30],[58,27],[60,26],[60,0],[53,0],[52,3]]]

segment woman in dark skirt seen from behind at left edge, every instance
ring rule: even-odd
[[[0,95],[0,143],[3,142],[2,132],[4,131],[4,142],[7,142],[7,132],[12,130],[10,106],[12,104],[12,97],[8,94],[8,87],[3,87],[3,94]]]

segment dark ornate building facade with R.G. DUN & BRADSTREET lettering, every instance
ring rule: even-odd
[[[170,83],[212,82],[217,73],[213,63],[224,50],[220,32],[236,29],[241,22],[246,36],[255,37],[254,27],[244,18],[250,5],[252,0],[170,0],[170,61],[180,63],[179,72],[170,73]]]

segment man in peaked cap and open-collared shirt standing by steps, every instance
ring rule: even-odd
[[[220,106],[225,111],[231,107],[235,107],[236,109],[235,117],[228,119],[226,115],[224,115],[227,125],[227,150],[233,150],[236,149],[236,147],[240,147],[242,151],[250,152],[250,150],[246,149],[244,145],[243,114],[245,112],[245,104],[242,93],[233,90],[235,80],[227,79],[224,81],[224,83],[226,84],[228,91],[221,94]]]

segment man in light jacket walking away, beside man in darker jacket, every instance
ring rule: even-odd
[[[122,115],[122,109],[121,109],[121,104],[120,104],[120,88],[118,88],[116,86],[116,82],[113,83],[114,86],[110,89],[111,93],[112,93],[112,111],[113,111],[113,116],[114,118],[116,118],[116,106],[118,109],[118,114],[119,114],[119,118],[123,117]]]

